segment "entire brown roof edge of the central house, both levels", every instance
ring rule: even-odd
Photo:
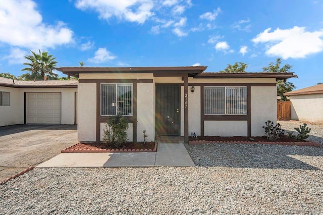
[[[59,67],[56,70],[64,74],[79,77],[80,73],[154,73],[154,74],[181,74],[188,73],[194,78],[276,78],[286,80],[297,77],[294,73],[214,73],[204,72],[206,66],[187,67]]]

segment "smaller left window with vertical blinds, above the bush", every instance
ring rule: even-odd
[[[132,84],[101,84],[101,115],[132,115]]]

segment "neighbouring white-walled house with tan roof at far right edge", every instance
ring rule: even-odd
[[[323,122],[323,84],[284,93],[292,102],[292,120]]]

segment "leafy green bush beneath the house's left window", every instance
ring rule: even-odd
[[[109,117],[105,123],[103,141],[112,147],[121,147],[128,140],[127,128],[128,122],[121,115]]]

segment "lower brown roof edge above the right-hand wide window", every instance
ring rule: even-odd
[[[276,80],[286,80],[288,78],[297,78],[294,73],[264,73],[264,72],[246,72],[246,73],[208,73],[203,72],[194,78],[276,78]]]

